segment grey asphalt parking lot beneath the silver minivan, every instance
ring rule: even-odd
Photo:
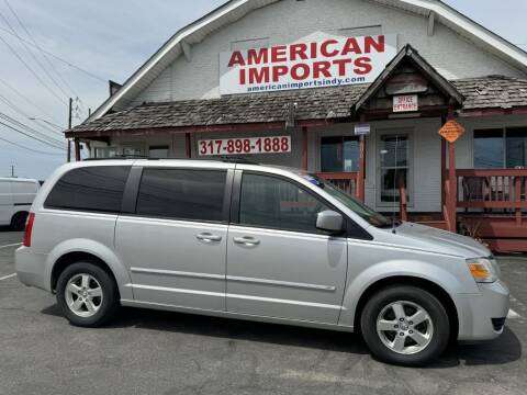
[[[0,229],[0,394],[525,394],[527,257],[502,256],[513,318],[504,335],[458,345],[434,365],[374,361],[359,337],[127,308],[76,328],[55,298],[23,286]]]

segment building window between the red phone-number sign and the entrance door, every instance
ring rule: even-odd
[[[321,170],[323,172],[359,171],[359,150],[357,137],[323,137]]]

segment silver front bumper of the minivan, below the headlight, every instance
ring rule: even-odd
[[[457,295],[458,340],[491,340],[503,332],[504,327],[496,326],[496,319],[503,319],[508,314],[508,287],[501,281],[478,286],[479,294]]]

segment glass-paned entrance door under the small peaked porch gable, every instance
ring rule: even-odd
[[[403,184],[407,200],[412,198],[411,150],[408,134],[386,134],[380,137],[380,167],[378,204],[390,206],[399,204],[400,185]],[[397,205],[399,207],[399,205]]]

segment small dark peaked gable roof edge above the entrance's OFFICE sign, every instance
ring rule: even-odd
[[[372,95],[374,95],[379,89],[381,89],[381,87],[389,80],[397,67],[406,59],[410,59],[413,65],[423,74],[423,76],[431,81],[442,94],[447,95],[449,99],[452,99],[458,106],[463,104],[464,97],[456,89],[456,87],[439,72],[437,72],[437,70],[430,64],[428,64],[415,48],[412,47],[412,45],[406,44],[404,48],[401,49],[393,58],[393,60],[388,64],[381,75],[370,84],[365,93],[362,93],[361,98],[357,101],[357,103],[355,103],[354,111],[359,111],[360,108]]]

